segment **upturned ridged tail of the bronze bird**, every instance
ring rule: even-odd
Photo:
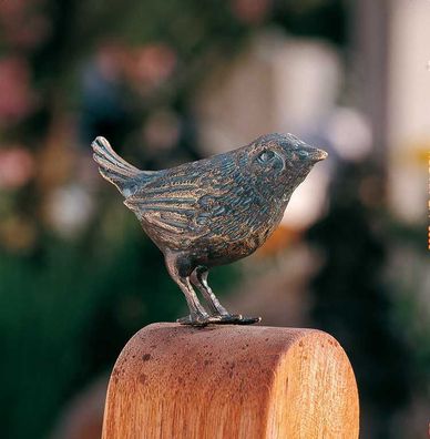
[[[94,151],[93,159],[99,164],[102,176],[114,184],[125,197],[132,195],[137,183],[135,177],[145,172],[120,157],[102,136],[96,137],[91,146]]]

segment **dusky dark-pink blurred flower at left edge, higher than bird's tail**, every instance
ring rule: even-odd
[[[0,60],[0,122],[16,122],[33,108],[34,95],[30,89],[30,71],[21,58]]]

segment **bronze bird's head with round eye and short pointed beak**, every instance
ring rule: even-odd
[[[247,152],[252,174],[289,195],[328,155],[289,133],[263,135],[248,145]]]

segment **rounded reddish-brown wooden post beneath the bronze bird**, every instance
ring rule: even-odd
[[[121,353],[103,439],[358,438],[344,349],[314,329],[154,324]]]

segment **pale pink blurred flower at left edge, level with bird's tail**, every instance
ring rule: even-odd
[[[24,185],[34,173],[34,160],[22,146],[0,151],[0,187]]]

